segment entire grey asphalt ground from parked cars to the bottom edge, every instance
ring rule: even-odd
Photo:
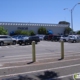
[[[36,64],[5,67],[2,64],[32,61],[32,45],[0,46],[0,80],[13,77],[15,80],[73,80],[73,74],[80,72],[80,43],[65,42],[64,49],[65,57],[74,56],[74,59],[47,61],[60,59],[61,43],[41,41],[36,44]],[[39,63],[40,60],[45,62]]]

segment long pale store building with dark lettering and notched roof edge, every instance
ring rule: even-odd
[[[53,34],[63,34],[66,27],[65,24],[49,24],[49,23],[23,23],[23,22],[0,22],[0,26],[3,26],[9,33],[16,30],[33,30],[37,33],[40,27],[45,27],[47,30],[51,30]]]

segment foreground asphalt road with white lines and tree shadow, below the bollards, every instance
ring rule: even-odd
[[[0,80],[13,77],[22,77],[21,80],[73,80],[73,74],[79,72],[80,59],[64,60],[25,66],[2,67],[0,68]]]

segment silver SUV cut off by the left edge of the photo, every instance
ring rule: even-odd
[[[9,35],[0,35],[0,46],[3,46],[4,44],[16,44],[16,40],[13,39]]]

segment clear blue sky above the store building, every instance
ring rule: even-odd
[[[70,10],[79,2],[80,0],[0,0],[0,22],[71,22]],[[80,4],[73,10],[73,29],[80,30]]]

